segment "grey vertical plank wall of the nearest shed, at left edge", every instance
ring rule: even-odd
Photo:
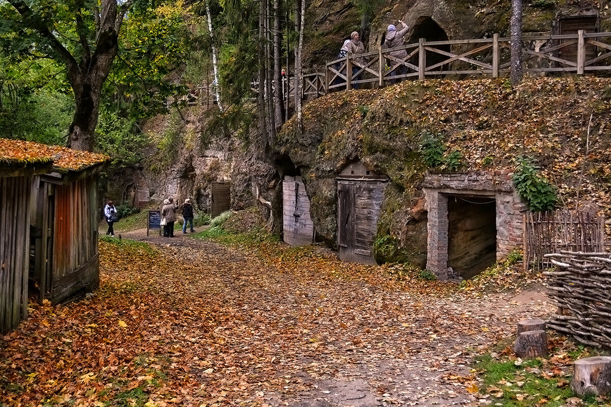
[[[27,317],[31,178],[0,178],[0,331]]]

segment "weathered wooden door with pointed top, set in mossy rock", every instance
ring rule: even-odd
[[[356,162],[337,180],[337,240],[340,259],[376,264],[373,239],[378,227],[384,189],[389,181]]]

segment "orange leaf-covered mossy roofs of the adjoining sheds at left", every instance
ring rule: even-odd
[[[87,170],[108,160],[109,157],[104,154],[89,151],[23,140],[0,139],[0,169],[26,169],[52,164],[53,170],[66,173]]]

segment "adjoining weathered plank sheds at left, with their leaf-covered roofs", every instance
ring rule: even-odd
[[[0,157],[0,328],[7,331],[27,316],[28,294],[56,304],[98,286],[97,173],[108,157],[7,139]],[[28,293],[29,282],[38,289]]]

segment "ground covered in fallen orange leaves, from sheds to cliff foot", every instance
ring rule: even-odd
[[[448,377],[551,309],[266,244],[101,241],[93,297],[31,304],[2,338],[2,405],[477,403]]]

